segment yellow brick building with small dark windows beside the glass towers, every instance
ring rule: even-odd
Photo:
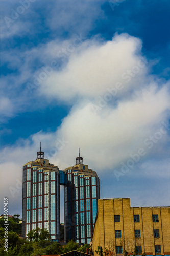
[[[170,207],[131,207],[130,198],[99,199],[92,249],[110,255],[131,253],[170,255]],[[131,253],[132,254],[132,253]]]

